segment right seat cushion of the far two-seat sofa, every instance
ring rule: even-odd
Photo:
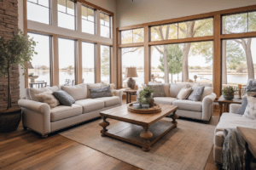
[[[172,105],[177,105],[178,110],[186,111],[202,111],[202,102],[201,101],[191,101],[189,99],[177,99],[172,103]]]

